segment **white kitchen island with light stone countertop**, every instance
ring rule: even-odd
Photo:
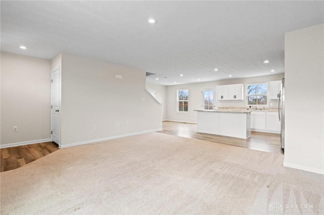
[[[251,111],[194,110],[197,132],[247,139],[250,137]]]

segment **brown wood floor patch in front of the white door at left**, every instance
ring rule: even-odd
[[[17,169],[58,149],[58,145],[54,142],[2,148],[0,149],[0,172]]]

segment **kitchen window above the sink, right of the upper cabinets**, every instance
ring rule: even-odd
[[[268,105],[268,84],[247,85],[248,105]]]

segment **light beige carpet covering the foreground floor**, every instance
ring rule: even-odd
[[[1,213],[323,214],[319,174],[284,155],[149,133],[1,173]]]

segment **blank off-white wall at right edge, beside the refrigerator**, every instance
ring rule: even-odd
[[[284,166],[324,174],[324,27],[285,35]]]

